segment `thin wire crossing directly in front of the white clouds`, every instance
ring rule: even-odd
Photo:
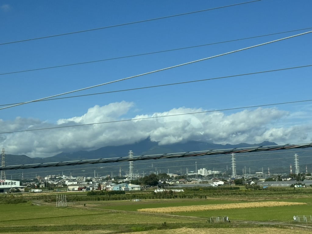
[[[100,123],[77,124],[77,125],[67,125],[67,126],[58,126],[58,127],[50,127],[50,128],[27,129],[27,130],[19,130],[19,131],[11,131],[11,132],[0,132],[0,134],[18,133],[18,132],[31,132],[31,131],[48,130],[48,129],[61,129],[61,128],[70,128],[70,127],[81,127],[81,126],[89,126],[89,125],[95,125],[95,124],[111,124],[111,123],[143,120],[143,119],[156,119],[156,118],[165,118],[165,117],[181,116],[181,115],[195,115],[195,114],[210,113],[210,112],[217,112],[217,111],[239,110],[239,109],[248,109],[248,108],[255,108],[255,107],[282,105],[282,104],[291,104],[291,103],[300,103],[300,102],[308,102],[308,101],[312,101],[312,99],[311,100],[302,100],[302,101],[292,101],[292,102],[281,102],[281,103],[274,103],[274,104],[265,104],[265,105],[253,105],[253,106],[235,107],[235,108],[227,108],[227,109],[219,109],[219,110],[198,111],[198,112],[174,114],[174,115],[165,115],[165,116],[157,116],[157,117],[156,116],[152,116],[152,117],[144,117],[144,118],[137,118],[137,119],[114,120],[114,121],[107,121],[107,122],[100,122]]]

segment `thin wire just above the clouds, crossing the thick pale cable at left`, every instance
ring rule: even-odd
[[[51,99],[45,99],[45,100],[39,100],[39,101],[51,101],[51,100],[59,100],[59,99],[66,99],[66,98],[76,98],[76,97],[84,97],[84,96],[99,95],[99,94],[109,94],[109,93],[116,93],[116,92],[124,92],[124,91],[132,91],[132,90],[140,90],[140,89],[149,89],[149,88],[163,87],[163,86],[169,86],[169,85],[181,85],[181,84],[188,84],[188,83],[193,83],[193,82],[201,82],[201,81],[207,81],[207,80],[217,80],[217,79],[230,78],[230,77],[236,77],[236,76],[255,75],[255,74],[261,74],[261,73],[266,73],[266,72],[284,71],[284,70],[304,68],[304,67],[310,67],[310,66],[312,66],[312,65],[288,67],[288,68],[281,68],[281,69],[275,69],[275,70],[269,70],[269,71],[257,71],[257,72],[238,74],[238,75],[232,75],[232,76],[221,76],[221,77],[208,78],[208,79],[202,79],[202,80],[191,80],[191,81],[185,81],[185,82],[178,82],[178,83],[171,83],[171,84],[164,84],[164,85],[154,85],[154,86],[147,86],[147,87],[139,87],[139,88],[133,88],[133,89],[115,90],[115,91],[93,93],[93,94],[84,94],[84,95],[76,95],[76,96],[69,96],[69,97],[60,97],[60,98],[51,98]],[[23,102],[11,103],[11,104],[2,104],[0,106],[16,105],[16,104],[21,104],[21,103],[23,103]]]

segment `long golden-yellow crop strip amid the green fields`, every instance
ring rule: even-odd
[[[248,203],[230,203],[218,205],[200,205],[200,206],[179,206],[179,207],[161,207],[138,209],[139,212],[148,213],[179,213],[179,212],[197,212],[208,210],[228,210],[228,209],[245,209],[257,207],[277,207],[277,206],[298,206],[306,205],[303,202],[248,202]]]

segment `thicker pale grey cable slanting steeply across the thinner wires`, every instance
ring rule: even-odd
[[[282,41],[282,40],[290,39],[290,38],[293,38],[293,37],[302,36],[302,35],[305,35],[305,34],[308,34],[308,33],[311,33],[311,32],[312,31],[303,32],[303,33],[296,34],[296,35],[293,35],[293,36],[290,36],[290,37],[280,38],[280,39],[277,39],[277,40],[274,40],[274,41],[261,43],[261,44],[255,45],[255,46],[249,46],[249,47],[245,47],[245,48],[242,48],[242,49],[239,49],[239,50],[230,51],[230,52],[227,52],[227,53],[223,53],[223,54],[219,54],[219,55],[215,55],[215,56],[211,56],[211,57],[207,57],[207,58],[203,58],[203,59],[198,59],[198,60],[195,60],[195,61],[191,61],[191,62],[187,62],[187,63],[183,63],[183,64],[178,64],[178,65],[175,65],[175,66],[162,68],[162,69],[158,69],[158,70],[155,70],[155,71],[142,73],[142,74],[135,75],[135,76],[129,76],[129,77],[126,77],[126,78],[123,78],[123,79],[114,80],[114,81],[106,82],[106,83],[99,84],[99,85],[93,85],[93,86],[90,86],[90,87],[86,87],[86,88],[82,88],[82,89],[78,89],[78,90],[73,90],[73,91],[69,91],[69,92],[66,92],[66,93],[62,93],[62,94],[52,95],[52,96],[41,98],[41,99],[37,99],[37,100],[32,100],[32,101],[23,102],[23,103],[20,103],[20,104],[15,104],[15,105],[2,107],[2,108],[0,108],[0,110],[11,108],[11,107],[18,106],[18,105],[24,105],[24,104],[32,103],[32,102],[36,102],[36,101],[40,101],[40,100],[45,100],[45,99],[49,99],[49,98],[53,98],[53,97],[57,97],[57,96],[61,96],[61,95],[66,95],[66,94],[70,94],[70,93],[74,93],[74,92],[79,92],[79,91],[82,91],[82,90],[87,90],[87,89],[91,89],[91,88],[95,88],[95,87],[99,87],[99,86],[103,86],[103,85],[108,85],[108,84],[116,83],[116,82],[123,81],[123,80],[129,80],[129,79],[132,79],[132,78],[135,78],[135,77],[145,76],[145,75],[149,75],[149,74],[152,74],[152,73],[169,70],[169,69],[173,69],[173,68],[176,68],[176,67],[181,67],[181,66],[192,64],[192,63],[200,62],[200,61],[205,61],[205,60],[208,60],[208,59],[212,59],[212,58],[216,58],[216,57],[220,57],[220,56],[236,53],[236,52],[239,52],[239,51],[244,51],[244,50],[248,50],[248,49],[259,47],[259,46],[264,46],[264,45],[271,44],[271,43],[274,43],[274,42],[277,42],[277,41]]]

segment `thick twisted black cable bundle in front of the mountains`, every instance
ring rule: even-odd
[[[184,152],[184,153],[173,153],[173,154],[141,155],[137,157],[100,158],[100,159],[68,161],[68,162],[37,163],[37,164],[4,166],[4,167],[0,167],[0,171],[12,170],[12,169],[16,170],[16,169],[28,169],[28,168],[74,166],[74,165],[97,164],[97,163],[119,163],[119,162],[130,162],[130,161],[138,161],[138,160],[151,160],[151,159],[163,159],[163,158],[187,158],[187,157],[198,157],[198,156],[216,155],[216,154],[239,154],[239,153],[247,153],[247,152],[250,153],[250,152],[260,152],[260,151],[285,150],[285,149],[305,149],[309,147],[312,147],[312,143],[247,147],[247,148],[241,148],[241,149],[237,149],[237,148],[217,149],[217,150],[195,151],[195,152]]]

